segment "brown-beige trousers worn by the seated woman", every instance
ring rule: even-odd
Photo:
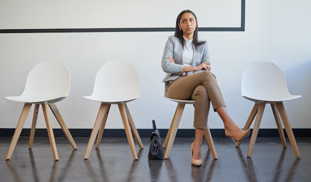
[[[226,106],[216,77],[209,71],[180,76],[174,81],[169,81],[166,92],[169,98],[195,100],[193,123],[195,128],[207,128],[210,102],[214,111],[218,107]]]

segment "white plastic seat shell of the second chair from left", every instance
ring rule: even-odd
[[[84,96],[101,102],[123,102],[140,97],[140,78],[134,66],[125,61],[110,61],[97,72],[93,93]]]

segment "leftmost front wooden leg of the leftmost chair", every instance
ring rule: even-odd
[[[10,145],[8,147],[8,150],[7,150],[7,153],[6,153],[6,156],[5,156],[6,160],[11,159],[11,157],[12,157],[13,151],[15,149],[16,143],[17,143],[18,138],[20,136],[21,130],[23,129],[23,126],[24,126],[25,121],[27,119],[27,116],[28,116],[29,110],[31,108],[31,105],[32,105],[32,103],[25,103],[24,104],[23,110],[21,111],[19,120],[17,122],[17,126],[15,128],[15,131],[14,131],[11,143],[10,143]]]

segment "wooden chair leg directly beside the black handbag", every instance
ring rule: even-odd
[[[168,159],[170,151],[172,149],[175,137],[176,137],[176,133],[177,133],[177,129],[180,123],[180,119],[181,119],[181,115],[182,112],[185,108],[185,103],[178,103],[173,120],[172,120],[172,128],[170,129],[171,131],[169,131],[169,136],[165,138],[164,143],[167,142],[166,144],[166,149],[164,152],[164,159]],[[167,140],[167,141],[166,141]]]

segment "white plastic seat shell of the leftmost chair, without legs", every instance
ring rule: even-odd
[[[70,91],[70,73],[66,65],[58,61],[37,64],[28,74],[20,96],[6,97],[21,102],[54,103],[66,98]]]

